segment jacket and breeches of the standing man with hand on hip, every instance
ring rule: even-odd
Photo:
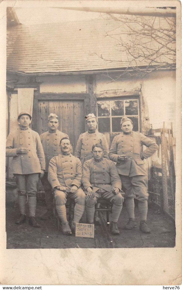
[[[143,145],[148,147],[142,151]],[[109,159],[117,162],[116,167],[121,177],[122,189],[126,198],[137,197],[140,201],[148,199],[148,168],[143,159],[150,157],[158,145],[142,133],[132,131],[130,134],[119,134],[114,137],[109,151]],[[128,159],[118,161],[119,155]]]

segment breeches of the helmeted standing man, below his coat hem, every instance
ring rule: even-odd
[[[36,196],[39,173],[14,174],[18,187],[18,195]]]

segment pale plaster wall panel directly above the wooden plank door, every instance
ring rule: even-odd
[[[85,76],[64,75],[37,77],[40,84],[40,93],[85,93],[86,83]]]

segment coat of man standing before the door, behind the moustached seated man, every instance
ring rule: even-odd
[[[61,153],[59,144],[63,137],[69,138],[67,134],[59,130],[56,130],[55,132],[47,131],[40,135],[45,154],[45,172],[48,172],[51,158]]]

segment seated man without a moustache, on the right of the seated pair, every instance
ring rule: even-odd
[[[121,180],[114,162],[103,157],[103,146],[99,143],[92,146],[93,159],[83,164],[82,184],[86,190],[87,222],[94,223],[95,204],[102,198],[113,203],[111,233],[119,235],[119,219],[124,198],[121,191]]]

